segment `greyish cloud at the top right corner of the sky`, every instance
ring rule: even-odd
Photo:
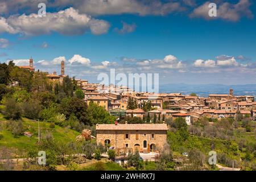
[[[197,7],[193,10],[193,12],[189,15],[191,18],[204,18],[204,19],[225,19],[232,22],[236,22],[240,20],[243,16],[247,18],[253,18],[253,13],[249,9],[251,3],[249,0],[240,0],[237,4],[232,4],[229,2],[222,2],[217,5],[217,17],[210,17],[209,3],[205,2],[203,5]]]

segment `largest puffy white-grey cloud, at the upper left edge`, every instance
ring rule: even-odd
[[[110,24],[105,20],[94,19],[89,15],[80,14],[70,7],[57,13],[47,13],[44,17],[38,14],[11,15],[0,18],[0,32],[24,35],[42,35],[59,32],[63,35],[81,35],[90,30],[92,34],[108,32]]]

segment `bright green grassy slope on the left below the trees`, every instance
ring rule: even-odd
[[[0,146],[13,147],[18,150],[28,150],[28,148],[36,147],[38,139],[38,122],[31,119],[22,119],[23,127],[25,131],[30,131],[33,136],[31,138],[26,136],[14,137],[11,131],[6,128],[6,122],[8,122],[2,114],[0,114],[0,134],[3,138],[0,140]],[[60,126],[55,126],[55,129],[49,128],[49,123],[40,122],[40,133],[44,137],[48,132],[52,133],[53,138],[63,142],[75,141],[75,138],[79,133],[74,130],[66,129]]]

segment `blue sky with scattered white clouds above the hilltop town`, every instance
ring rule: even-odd
[[[40,2],[46,16],[38,15]],[[217,16],[209,16],[216,3]],[[256,84],[252,0],[0,0],[0,61],[100,82],[158,73],[159,84]]]

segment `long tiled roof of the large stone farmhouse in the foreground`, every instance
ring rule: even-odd
[[[96,130],[168,130],[166,124],[102,124]]]

